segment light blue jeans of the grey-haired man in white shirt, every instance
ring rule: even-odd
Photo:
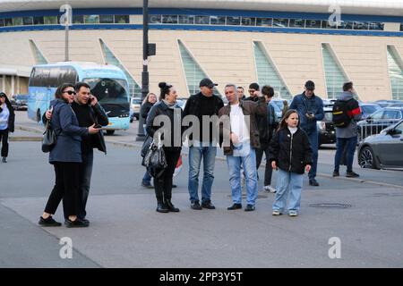
[[[241,164],[244,167],[246,179],[246,203],[253,205],[258,195],[256,153],[253,148],[247,156],[227,156],[229,184],[231,185],[232,201],[234,204],[242,202]]]

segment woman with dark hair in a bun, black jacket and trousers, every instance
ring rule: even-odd
[[[155,122],[157,116],[165,115],[169,119],[170,129],[164,129],[161,135],[163,149],[167,159],[167,168],[157,172],[154,177],[154,189],[157,197],[157,212],[179,212],[172,202],[172,179],[175,172],[177,160],[181,154],[182,147],[182,108],[176,105],[176,89],[167,84],[160,82],[161,89],[160,101],[153,105],[150,109],[150,114],[147,116],[147,134],[158,139],[158,133],[161,127],[158,122]],[[177,131],[179,129],[179,132]],[[156,136],[154,136],[156,135]],[[176,138],[175,136],[179,136]]]

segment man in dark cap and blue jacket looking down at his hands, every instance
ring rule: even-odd
[[[312,168],[308,174],[309,184],[311,186],[319,186],[316,181],[316,169],[318,166],[318,128],[316,122],[321,121],[324,117],[323,101],[321,97],[314,94],[315,84],[312,80],[305,82],[305,91],[294,97],[289,109],[296,109],[299,115],[300,127],[306,132],[309,143],[312,147]]]

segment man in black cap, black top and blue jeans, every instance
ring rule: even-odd
[[[210,79],[201,80],[200,92],[189,99],[184,106],[184,117],[194,115],[200,124],[200,133],[192,134],[193,145],[189,147],[189,196],[191,207],[200,210],[202,207],[215,209],[211,203],[211,186],[214,181],[214,164],[217,155],[217,139],[213,138],[213,129],[216,126],[203,128],[202,118],[219,114],[219,109],[224,106],[221,98],[213,95],[214,87],[217,86]],[[203,129],[206,134],[203,134]],[[210,134],[209,134],[210,133]],[[201,159],[203,160],[203,182],[201,186],[201,205],[199,201],[199,172]]]

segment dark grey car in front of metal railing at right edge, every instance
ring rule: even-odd
[[[357,159],[362,168],[402,168],[403,120],[364,139],[358,146]]]

